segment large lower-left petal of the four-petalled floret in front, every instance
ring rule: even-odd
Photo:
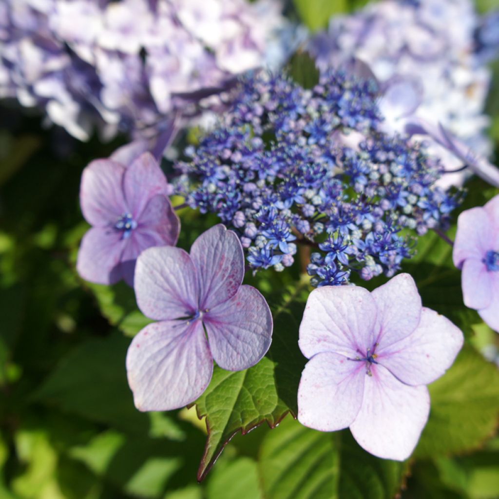
[[[170,411],[196,400],[213,373],[213,360],[199,320],[147,325],[126,357],[128,384],[140,411]]]

